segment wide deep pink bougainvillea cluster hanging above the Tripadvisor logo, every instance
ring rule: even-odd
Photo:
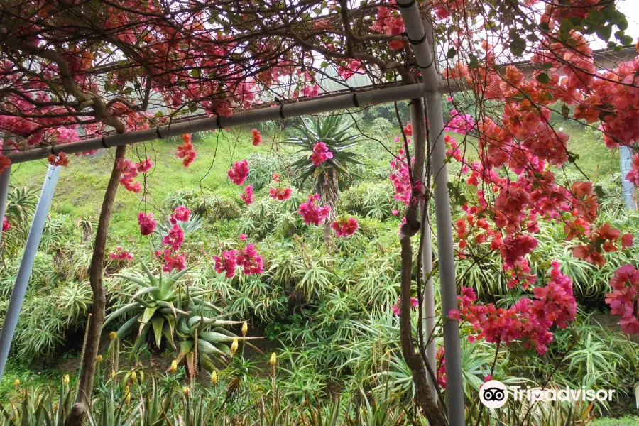
[[[552,342],[550,329],[557,325],[567,327],[577,314],[577,302],[572,293],[572,280],[559,269],[559,262],[552,262],[550,281],[543,287],[532,289],[534,299],[522,297],[514,305],[503,308],[493,304],[476,303],[471,288],[461,288],[457,297],[459,310],[451,310],[451,320],[471,323],[473,334],[469,340],[486,339],[486,342],[509,344],[525,339],[526,346],[533,346],[541,355]]]

